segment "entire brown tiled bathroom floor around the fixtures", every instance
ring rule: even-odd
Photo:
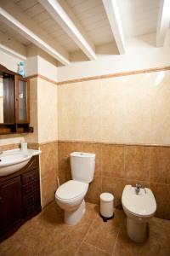
[[[87,211],[76,226],[63,224],[63,213],[52,202],[6,241],[0,256],[170,256],[170,221],[153,218],[150,236],[142,244],[130,241],[124,213],[104,223],[99,207],[87,203]]]

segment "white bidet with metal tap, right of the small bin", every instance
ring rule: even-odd
[[[127,215],[127,235],[136,242],[142,242],[147,235],[147,223],[156,212],[156,200],[148,188],[137,190],[126,185],[122,192],[122,207]]]

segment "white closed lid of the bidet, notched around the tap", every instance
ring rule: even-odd
[[[156,200],[152,191],[142,189],[139,195],[134,193],[131,185],[126,185],[122,192],[122,205],[127,211],[139,216],[150,216],[156,212]]]

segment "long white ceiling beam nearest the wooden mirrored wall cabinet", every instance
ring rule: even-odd
[[[6,5],[0,6],[0,18],[31,43],[53,56],[54,59],[64,65],[70,63],[69,53],[59,44],[57,45],[53,38],[47,37],[47,33],[14,3],[8,2]]]

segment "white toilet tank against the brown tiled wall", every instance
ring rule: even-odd
[[[71,176],[73,180],[91,183],[94,179],[95,154],[72,152]]]

